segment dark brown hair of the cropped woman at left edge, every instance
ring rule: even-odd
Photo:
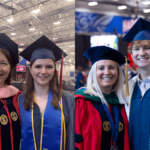
[[[5,49],[0,48],[0,52],[5,55],[6,59],[8,60],[9,65],[10,65],[9,75],[8,75],[7,79],[5,80],[5,82],[4,82],[5,84],[10,85],[11,84],[11,70],[13,68],[11,56],[10,56],[9,52]]]

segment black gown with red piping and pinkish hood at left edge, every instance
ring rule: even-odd
[[[0,150],[19,150],[21,120],[17,98],[21,91],[13,86],[0,88]]]

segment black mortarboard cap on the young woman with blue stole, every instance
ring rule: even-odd
[[[58,61],[62,58],[62,53],[64,52],[57,45],[43,35],[23,50],[20,56],[30,62],[37,59],[52,59]],[[64,57],[66,56],[67,54],[64,53]]]

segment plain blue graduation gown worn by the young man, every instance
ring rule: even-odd
[[[131,150],[150,149],[150,89],[144,96],[135,83],[129,114],[129,138]]]

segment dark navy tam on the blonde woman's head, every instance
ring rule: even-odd
[[[92,62],[92,65],[99,60],[113,60],[119,65],[123,65],[126,62],[125,57],[120,52],[107,46],[88,48],[84,56]]]

